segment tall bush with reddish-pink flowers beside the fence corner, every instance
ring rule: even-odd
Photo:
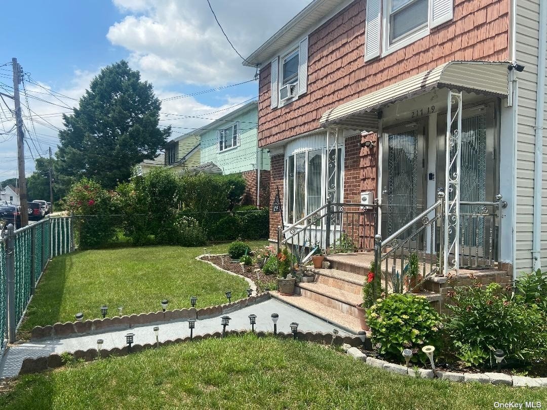
[[[68,191],[65,206],[75,215],[76,239],[80,249],[101,247],[115,237],[112,196],[111,192],[87,178],[73,184]]]

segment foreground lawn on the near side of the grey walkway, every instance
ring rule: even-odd
[[[327,347],[252,334],[169,345],[24,376],[0,408],[484,409],[547,389],[414,379]]]

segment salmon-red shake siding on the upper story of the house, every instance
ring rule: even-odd
[[[328,109],[445,62],[509,59],[509,0],[455,0],[452,21],[366,63],[365,4],[351,3],[310,33],[305,95],[271,109],[270,65],[260,69],[260,147],[316,130]]]

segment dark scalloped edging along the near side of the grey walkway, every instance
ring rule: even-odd
[[[226,335],[245,335],[249,331],[247,330],[232,330],[232,331],[226,331]],[[264,332],[264,331],[258,331],[255,333],[258,337],[265,337],[265,336],[271,336],[272,333],[270,332]],[[220,338],[222,337],[222,333],[220,332],[214,332],[214,333],[205,333],[205,335],[196,335],[194,336],[194,341],[200,341],[203,339],[209,339],[209,338]],[[281,339],[292,339],[293,334],[292,333],[283,333],[278,332],[277,337]],[[331,333],[322,333],[322,332],[298,332],[297,337],[300,341],[306,341],[306,342],[315,342],[315,343],[325,343],[325,344],[334,344],[334,345],[348,345],[348,346],[359,346],[362,344],[361,339],[358,336],[334,336]],[[166,340],[164,342],[159,342],[159,346],[166,346],[170,344],[176,344],[176,343],[186,343],[190,342],[190,336],[186,336],[184,338],[177,338],[174,340]],[[146,349],[153,349],[155,348],[156,343],[150,344],[133,344],[131,350],[129,350],[129,347],[124,346],[123,348],[114,347],[112,349],[101,349],[101,358],[105,359],[110,356],[126,356],[131,353],[138,353],[142,352],[142,350]],[[353,347],[352,347],[353,349]],[[71,359],[77,360],[77,359],[83,359],[85,361],[92,361],[97,359],[97,349],[88,349],[88,350],[76,350],[74,353],[68,353],[69,357]],[[66,360],[66,359],[65,359]],[[49,356],[42,356],[39,358],[26,358],[23,360],[21,369],[19,370],[19,374],[31,374],[31,373],[40,373],[44,372],[49,369],[62,367],[65,365],[65,362],[63,361],[63,358],[61,358],[60,354],[53,353]]]

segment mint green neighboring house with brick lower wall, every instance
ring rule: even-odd
[[[268,206],[270,156],[258,148],[258,102],[252,101],[181,138],[201,140],[200,165],[191,172],[241,174],[246,204]]]

